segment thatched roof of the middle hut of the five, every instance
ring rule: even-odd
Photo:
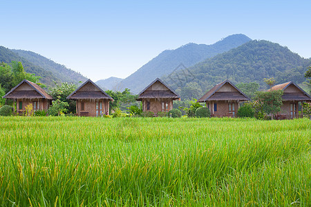
[[[152,89],[151,86],[153,86],[153,84],[155,83],[162,84],[162,86],[164,86],[162,90]],[[166,90],[163,90],[163,89],[166,89]],[[180,96],[177,95],[176,92],[173,91],[173,89],[167,86],[167,84],[165,84],[163,81],[157,78],[154,81],[152,81],[149,84],[149,86],[144,88],[142,92],[138,94],[137,100],[142,101],[142,99],[173,99],[173,100],[176,100],[176,99],[180,99]]]

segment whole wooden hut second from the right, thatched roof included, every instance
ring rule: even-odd
[[[211,88],[198,102],[206,103],[212,117],[235,117],[240,101],[249,100],[247,95],[226,80]]]

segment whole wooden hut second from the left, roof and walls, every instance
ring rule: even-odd
[[[67,99],[76,100],[77,115],[86,117],[109,115],[109,101],[113,101],[113,98],[90,79],[68,95]]]

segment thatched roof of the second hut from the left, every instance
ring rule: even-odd
[[[91,84],[92,87],[86,87],[87,84]],[[88,79],[74,92],[68,95],[67,99],[109,99],[113,101],[102,88],[98,87],[93,81]]]

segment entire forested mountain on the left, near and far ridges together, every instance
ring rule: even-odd
[[[54,81],[57,83],[76,83],[78,85],[79,81],[86,81],[86,77],[74,70],[70,70],[35,52],[10,50],[9,48],[0,46],[0,62],[1,61],[4,63],[21,61],[25,71],[40,76],[41,83],[44,83],[46,86],[54,86]]]

